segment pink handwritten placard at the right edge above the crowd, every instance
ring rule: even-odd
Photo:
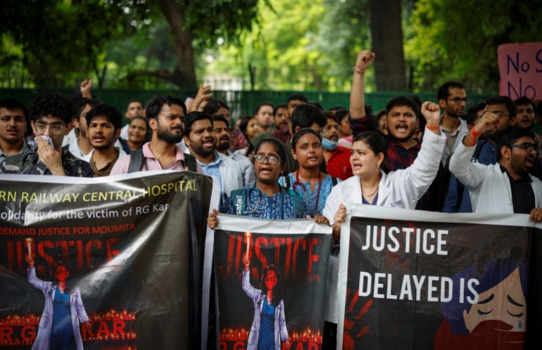
[[[542,42],[498,47],[500,95],[542,99]]]

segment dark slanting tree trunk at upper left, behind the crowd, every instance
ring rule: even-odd
[[[177,64],[169,80],[181,89],[197,90],[198,83],[196,82],[192,33],[183,27],[184,13],[182,12],[182,6],[179,6],[175,0],[158,0],[158,4],[170,25],[175,41]]]

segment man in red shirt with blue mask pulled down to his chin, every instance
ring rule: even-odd
[[[326,162],[327,174],[346,180],[352,176],[350,165],[351,150],[339,145],[339,134],[337,129],[339,123],[333,112],[324,112],[327,124],[322,131],[322,148],[324,148],[324,160]]]

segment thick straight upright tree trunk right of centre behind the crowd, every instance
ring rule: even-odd
[[[377,90],[405,91],[401,0],[371,0],[371,34]]]

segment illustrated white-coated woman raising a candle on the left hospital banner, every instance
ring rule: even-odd
[[[36,276],[34,259],[27,255],[28,282],[42,290],[45,307],[39,320],[39,330],[32,350],[82,350],[80,323],[90,328],[89,317],[84,311],[79,288],[67,284],[70,272],[62,262],[51,271],[54,282],[40,280]]]

